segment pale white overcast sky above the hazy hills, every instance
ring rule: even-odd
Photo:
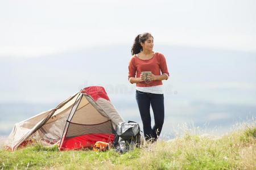
[[[0,1],[0,56],[155,43],[256,51],[256,1]]]

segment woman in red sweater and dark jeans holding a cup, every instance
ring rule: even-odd
[[[136,100],[143,123],[146,140],[155,141],[164,122],[164,96],[162,80],[169,78],[166,59],[163,54],[153,51],[154,38],[150,33],[138,35],[131,48],[129,62],[130,83],[136,83]],[[142,71],[151,71],[145,77]],[[160,74],[160,71],[162,74]],[[150,104],[154,112],[155,125],[151,128]]]

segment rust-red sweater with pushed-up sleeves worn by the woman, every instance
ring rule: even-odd
[[[150,59],[140,59],[137,57],[137,55],[134,55],[131,57],[129,61],[129,75],[128,79],[131,77],[139,78],[141,76],[142,71],[151,71],[154,75],[161,75],[166,73],[168,76],[170,75],[168,73],[167,65],[166,65],[166,58],[164,58],[163,54],[159,52],[155,52],[154,56]],[[136,86],[138,87],[151,87],[151,86],[158,86],[161,85],[162,80],[154,80],[152,82],[140,82],[137,83]]]

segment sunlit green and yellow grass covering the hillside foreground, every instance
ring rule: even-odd
[[[125,154],[59,151],[36,144],[0,150],[0,169],[255,169],[255,139],[253,122],[218,138],[185,130],[182,137],[145,143]]]

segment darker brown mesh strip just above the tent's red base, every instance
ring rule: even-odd
[[[67,135],[65,137],[70,138],[94,133],[114,133],[111,120],[94,125],[83,125],[69,122]]]

